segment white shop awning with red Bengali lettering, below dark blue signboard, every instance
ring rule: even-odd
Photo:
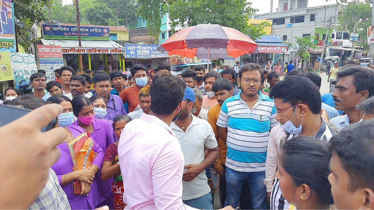
[[[61,46],[62,53],[99,53],[99,54],[122,54],[125,53],[125,47],[114,41],[108,40],[82,40],[82,47],[79,47],[78,40],[56,40],[42,39],[44,45]]]

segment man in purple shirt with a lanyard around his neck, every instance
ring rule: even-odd
[[[110,78],[107,74],[95,74],[93,76],[93,89],[96,95],[102,96],[107,102],[107,112],[104,119],[113,120],[117,115],[126,115],[122,99],[117,95],[110,94]]]

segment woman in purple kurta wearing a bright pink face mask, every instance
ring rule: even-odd
[[[73,113],[78,120],[71,125],[82,127],[85,131],[90,132],[91,137],[105,152],[106,148],[114,143],[113,129],[107,120],[95,119],[95,111],[92,102],[85,96],[76,96],[72,101]],[[109,206],[113,209],[113,191],[111,190],[112,179],[103,181],[100,171],[96,173],[96,183],[98,187],[98,207]]]

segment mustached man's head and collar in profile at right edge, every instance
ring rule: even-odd
[[[349,65],[336,72],[336,90],[332,93],[335,109],[346,115],[334,117],[330,122],[337,129],[343,129],[352,123],[361,121],[364,112],[356,105],[374,95],[374,71],[358,65]]]

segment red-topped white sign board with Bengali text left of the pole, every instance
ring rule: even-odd
[[[55,69],[64,66],[61,46],[38,44],[39,68],[46,71],[47,82],[55,80]]]

